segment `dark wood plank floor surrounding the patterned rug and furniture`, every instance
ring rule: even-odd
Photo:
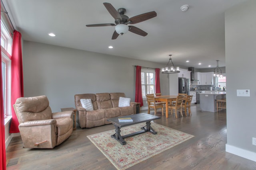
[[[159,112],[156,115],[161,116]],[[192,105],[192,116],[177,119],[173,115],[167,119],[163,116],[154,122],[195,137],[128,170],[256,170],[256,162],[225,152],[224,110],[212,113]],[[18,164],[7,167],[7,170],[114,170],[111,162],[86,137],[111,129],[114,129],[113,125],[90,129],[78,127],[54,149],[24,149],[21,138],[14,137],[6,149],[6,159],[10,164],[15,161]]]

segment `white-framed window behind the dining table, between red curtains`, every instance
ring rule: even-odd
[[[155,93],[155,71],[141,70],[141,88],[142,98],[146,98],[146,94]]]

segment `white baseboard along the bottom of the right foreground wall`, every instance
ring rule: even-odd
[[[235,154],[237,156],[241,156],[243,158],[252,160],[254,162],[256,162],[256,152],[252,152],[249,150],[244,150],[238,147],[234,147],[232,145],[228,145],[226,144],[226,152],[230,152],[232,154]]]

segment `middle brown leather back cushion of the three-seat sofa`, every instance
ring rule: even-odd
[[[98,105],[98,109],[113,108],[109,93],[97,93],[97,94],[95,94],[95,96],[96,96],[96,102]]]

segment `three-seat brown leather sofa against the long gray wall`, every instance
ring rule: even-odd
[[[81,128],[110,124],[108,118],[136,113],[136,102],[130,102],[130,106],[118,107],[119,98],[125,97],[124,93],[76,94],[74,97],[78,111],[77,122]],[[93,111],[83,108],[80,99],[91,99]]]

